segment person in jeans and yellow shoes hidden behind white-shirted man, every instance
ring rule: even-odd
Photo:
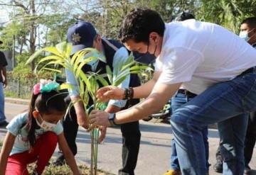
[[[195,17],[193,14],[188,12],[183,12],[181,15],[177,16],[174,21],[186,21],[186,20],[195,20]],[[181,85],[181,88],[178,89],[176,94],[171,98],[171,109],[172,113],[174,113],[179,107],[181,107],[183,104],[187,103],[188,101],[191,101],[194,97],[196,97],[196,94],[193,94],[191,91],[188,91],[184,89]],[[208,126],[206,126],[202,130],[203,135],[203,143],[205,146],[206,151],[206,169],[209,170],[209,143],[208,143]],[[171,169],[169,169],[165,174],[163,175],[181,175],[181,169],[178,163],[178,156],[176,151],[176,143],[175,140],[171,140]]]

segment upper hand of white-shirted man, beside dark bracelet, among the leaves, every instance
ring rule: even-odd
[[[96,96],[101,102],[106,102],[110,99],[122,100],[124,98],[124,89],[116,86],[105,86],[97,90]]]

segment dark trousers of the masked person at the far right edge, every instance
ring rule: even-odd
[[[253,148],[256,142],[256,112],[250,113],[250,118],[248,120],[247,132],[245,136],[245,167],[249,166],[250,160],[252,159]],[[220,153],[220,147],[218,147],[216,152],[217,162],[223,162],[223,157]]]

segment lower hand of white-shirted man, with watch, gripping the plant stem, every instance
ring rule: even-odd
[[[93,126],[95,125],[102,125],[102,126],[109,126],[110,121],[109,121],[109,113],[105,111],[100,111],[100,110],[93,110],[90,115],[90,124]]]

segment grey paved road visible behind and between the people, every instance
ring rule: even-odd
[[[8,120],[14,115],[26,110],[27,106],[6,103],[6,115]],[[142,141],[139,150],[139,159],[135,174],[137,175],[158,175],[169,168],[170,140],[174,137],[171,134],[170,125],[162,123],[140,122],[142,130]],[[4,137],[6,130],[0,129],[0,139]],[[79,162],[90,164],[90,135],[80,128],[77,137],[78,154],[76,159]],[[215,150],[218,147],[218,131],[209,130],[210,143],[210,164],[215,163]],[[108,128],[105,143],[99,145],[98,166],[100,169],[111,171],[117,174],[121,161],[122,139],[119,128]],[[56,149],[55,154],[57,154]],[[252,168],[256,169],[256,148],[251,162]],[[216,173],[210,166],[210,174]]]

